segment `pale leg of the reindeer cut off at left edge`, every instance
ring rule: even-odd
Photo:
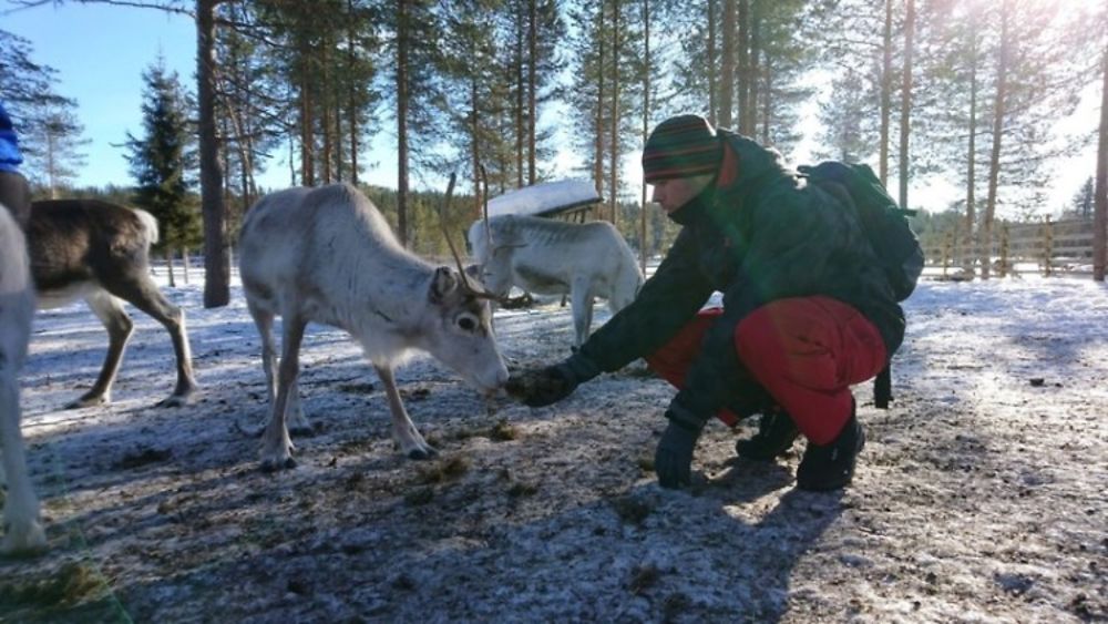
[[[11,359],[0,357],[0,458],[8,479],[8,498],[3,504],[6,531],[0,542],[0,552],[4,553],[47,545],[47,535],[39,523],[39,500],[27,474],[27,457],[19,430],[19,386],[12,366]]]

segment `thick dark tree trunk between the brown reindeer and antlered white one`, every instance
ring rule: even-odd
[[[230,300],[230,258],[224,236],[223,170],[215,132],[215,7],[196,1],[196,100],[199,109],[201,204],[204,214],[204,307]]]

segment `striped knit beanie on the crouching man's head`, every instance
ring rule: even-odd
[[[674,177],[714,174],[722,145],[716,129],[700,115],[677,115],[658,124],[643,147],[647,184]]]

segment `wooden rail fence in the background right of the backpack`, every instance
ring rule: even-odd
[[[1092,221],[1051,221],[1039,223],[997,223],[993,228],[991,273],[1003,277],[1009,274],[1056,273],[1084,274],[1092,272]],[[966,249],[963,234],[947,232],[938,245],[925,245],[927,266],[942,269],[943,275],[956,274],[967,264],[979,263],[976,248]],[[970,252],[970,263],[966,256]],[[979,272],[979,268],[976,268]]]

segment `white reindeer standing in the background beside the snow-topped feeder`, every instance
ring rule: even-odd
[[[643,286],[635,254],[607,222],[503,215],[474,222],[469,241],[478,274],[491,293],[503,297],[517,286],[541,295],[570,294],[578,347],[588,338],[594,297],[607,299],[615,314]]]

